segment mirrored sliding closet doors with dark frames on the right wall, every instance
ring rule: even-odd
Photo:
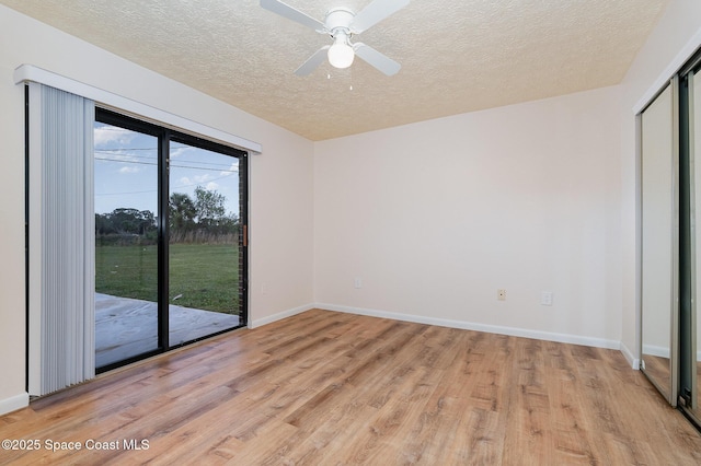
[[[640,369],[701,429],[701,51],[639,114]]]

